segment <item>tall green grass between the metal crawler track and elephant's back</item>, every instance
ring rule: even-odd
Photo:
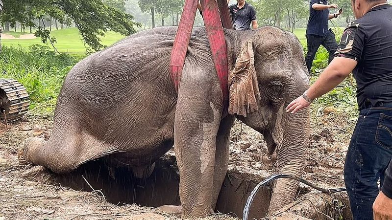
[[[68,54],[56,55],[45,45],[33,44],[28,49],[4,46],[0,53],[1,78],[12,78],[25,86],[30,110],[53,112],[64,78],[77,62]]]

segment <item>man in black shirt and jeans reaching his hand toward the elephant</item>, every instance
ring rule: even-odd
[[[335,59],[286,110],[308,107],[353,72],[360,113],[344,164],[351,210],[354,220],[373,219],[379,194],[374,217],[392,219],[392,165],[385,172],[392,158],[392,5],[386,0],[351,0],[351,5],[357,20],[344,30]]]

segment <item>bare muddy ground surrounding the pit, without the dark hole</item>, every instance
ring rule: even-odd
[[[334,111],[325,113],[329,114],[314,115],[311,121],[311,141],[307,159],[304,161],[306,163],[304,177],[324,188],[343,187],[344,156],[355,120],[347,120],[347,116]],[[174,216],[162,213],[157,209],[140,207],[136,204],[128,205],[131,203],[118,202],[117,204],[122,206],[116,206],[114,201],[119,196],[110,198],[108,196],[110,194],[108,194],[109,191],[99,188],[99,185],[92,183],[92,186],[84,184],[83,187],[80,187],[80,189],[85,191],[92,191],[91,189],[94,188],[96,190],[95,193],[75,191],[64,187],[64,184],[55,184],[56,180],[53,180],[53,176],[47,172],[40,172],[42,171],[40,170],[41,168],[20,165],[16,155],[18,145],[29,136],[48,139],[51,130],[52,115],[29,114],[21,121],[8,124],[8,126],[0,124],[0,220],[176,219]],[[239,121],[236,121],[232,129],[230,150],[229,172],[224,182],[226,193],[221,192],[220,200],[225,200],[226,194],[230,194],[233,191],[230,185],[236,186],[235,191],[245,188],[245,194],[248,195],[258,181],[264,180],[275,172],[273,159],[267,155],[267,148],[262,135]],[[168,154],[167,156],[173,160],[173,154]],[[39,178],[36,176],[37,174],[39,174]],[[80,176],[79,173],[77,175]],[[89,176],[86,176],[86,178],[88,179]],[[178,188],[175,189],[175,184],[178,180],[172,181],[173,179],[168,180],[168,182],[171,181],[174,184],[172,187],[174,188],[173,192],[175,192],[175,190],[178,190]],[[37,180],[39,181],[37,182]],[[248,181],[247,188],[243,184],[244,180],[245,182],[252,180]],[[86,180],[85,183],[89,181]],[[73,186],[72,184],[68,185]],[[146,183],[144,187],[147,187],[147,185]],[[140,187],[140,190],[147,190],[143,189],[144,187]],[[101,191],[98,191],[99,189]],[[106,194],[106,197],[103,198],[102,194]],[[241,199],[237,199],[241,200],[238,201],[239,206],[243,207],[247,198],[245,194]],[[268,191],[265,194],[267,197],[269,196]],[[133,194],[132,201],[135,201],[135,197],[137,197],[135,195]],[[162,197],[161,200],[166,199],[166,197]],[[151,198],[153,198],[153,195]],[[342,198],[342,194],[339,198]],[[170,199],[173,203],[179,202],[178,195],[173,195],[173,198]],[[342,202],[343,200],[320,195],[319,192],[301,185],[298,198],[296,198],[298,204],[286,207],[285,210],[310,219],[345,219],[349,218],[349,216],[343,213],[347,213],[349,210],[344,209],[346,205]],[[305,204],[306,202],[309,203],[309,201],[310,204]],[[317,201],[322,204],[314,207]],[[154,201],[146,201],[138,204],[154,205],[155,203]],[[242,207],[236,207],[236,211],[230,211],[227,210],[230,206],[224,203],[219,208],[225,210],[226,213],[234,212],[231,213],[232,216],[240,216],[242,218]],[[266,208],[268,206],[263,208],[264,211]],[[312,213],[309,214],[308,212]],[[295,218],[293,217],[292,219]],[[209,217],[209,219],[233,219],[233,217],[214,215]]]

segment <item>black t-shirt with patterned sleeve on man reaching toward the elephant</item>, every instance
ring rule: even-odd
[[[337,57],[358,61],[353,70],[359,109],[392,102],[392,5],[377,6],[343,32]]]

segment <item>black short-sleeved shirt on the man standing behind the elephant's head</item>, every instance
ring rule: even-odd
[[[230,5],[229,12],[236,30],[250,30],[250,23],[256,20],[256,10],[246,2],[241,9],[238,3]]]

